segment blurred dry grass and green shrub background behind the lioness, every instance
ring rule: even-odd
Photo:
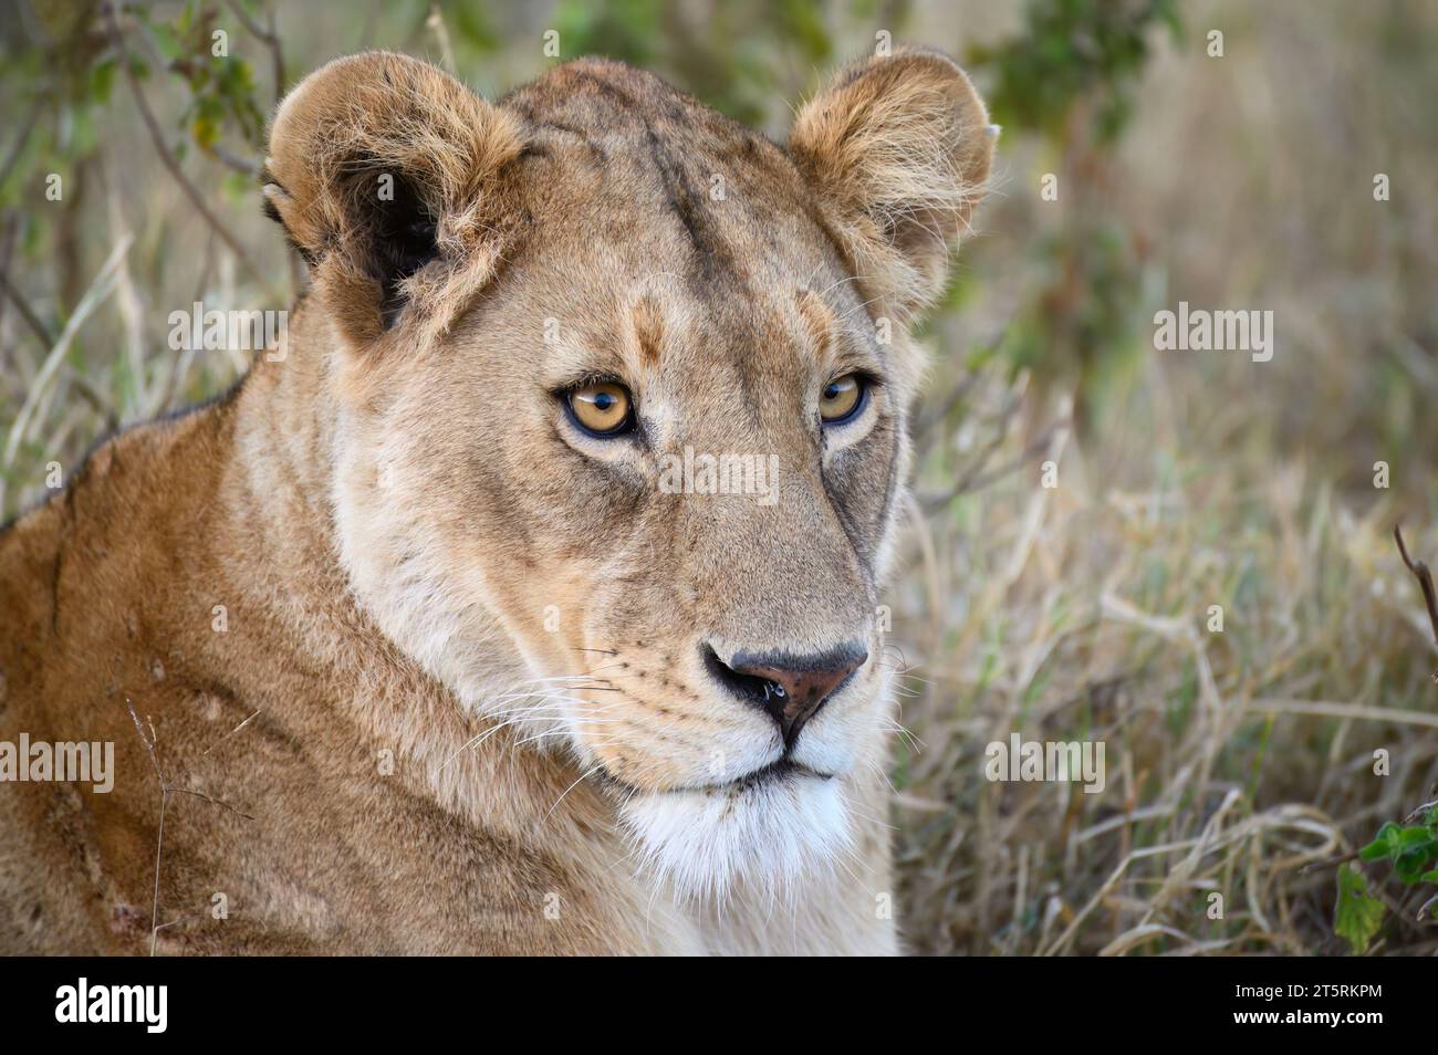
[[[554,62],[557,29],[562,57],[647,65],[779,139],[876,32],[939,46],[1005,132],[926,323],[889,596],[912,733],[892,816],[909,946],[1347,952],[1333,860],[1438,778],[1438,658],[1389,536],[1402,519],[1438,556],[1438,3],[132,7],[141,91],[244,260],[161,164],[99,6],[6,4],[0,264],[26,309],[0,308],[0,517],[43,497],[50,463],[243,371],[240,354],[171,351],[171,310],[285,308],[301,287],[243,171],[263,142],[246,99],[263,116],[276,98],[246,20],[276,27],[290,83],[383,46],[490,96]],[[242,65],[223,82],[196,70],[209,57],[186,20],[229,33]],[[1155,351],[1153,312],[1179,300],[1273,310],[1273,361]],[[1011,732],[1103,740],[1106,791],[988,782],[984,746]],[[1386,906],[1369,952],[1438,950],[1416,918],[1432,888],[1365,871]]]

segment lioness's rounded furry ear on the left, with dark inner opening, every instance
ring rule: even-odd
[[[313,269],[354,342],[413,310],[434,329],[483,285],[502,246],[502,172],[519,125],[454,78],[388,52],[336,59],[270,125],[266,211]],[[459,293],[459,296],[456,296]]]

